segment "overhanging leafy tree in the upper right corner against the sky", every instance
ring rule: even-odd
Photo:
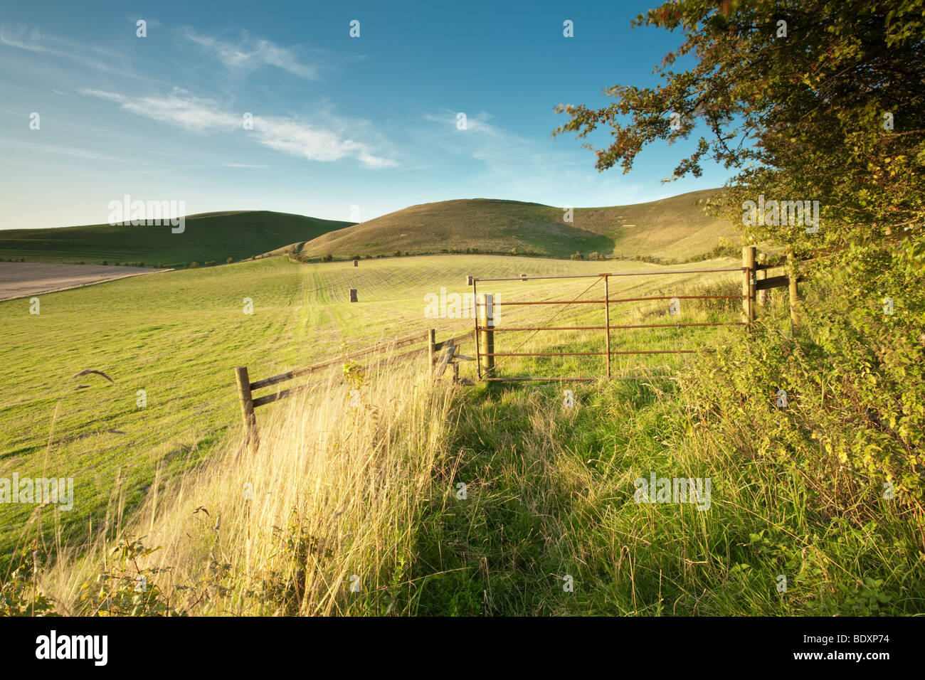
[[[819,233],[755,225],[754,240],[820,250],[920,237],[923,14],[923,0],[666,3],[634,22],[685,33],[656,69],[664,84],[614,85],[605,93],[617,102],[598,109],[561,105],[570,120],[556,134],[609,125],[596,167],[628,172],[647,144],[687,139],[699,123],[706,131],[672,179],[699,177],[704,157],[739,170],[723,199],[730,216],[759,193],[820,200]],[[685,56],[696,63],[672,70]]]

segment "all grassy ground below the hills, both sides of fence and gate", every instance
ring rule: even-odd
[[[740,328],[615,330],[614,351],[722,349],[696,360],[622,357],[613,369],[627,380],[452,387],[429,383],[423,358],[367,375],[336,366],[314,389],[261,408],[260,448],[240,449],[234,365],[253,379],[411,331],[462,334],[472,320],[426,318],[425,294],[467,291],[467,274],[600,265],[460,255],[354,268],[277,257],[43,295],[41,315],[28,314],[28,301],[0,303],[10,338],[0,380],[16,386],[0,412],[0,477],[73,476],[76,486],[71,512],[5,504],[0,551],[15,564],[38,550],[36,580],[66,613],[921,612],[919,512],[878,501],[870,480],[835,470],[812,446],[793,448],[820,427],[837,436],[837,411],[828,422],[828,410],[801,402],[792,413],[772,408],[773,376],[748,386],[755,406],[726,384],[761,351]],[[648,272],[611,279],[611,297],[734,294],[740,285],[737,272],[607,265]],[[596,299],[593,281],[479,289],[498,302]],[[350,288],[359,303],[347,302]],[[761,333],[785,328],[780,292]],[[253,315],[242,312],[245,297]],[[739,318],[738,300],[681,304],[674,318],[668,301],[613,303],[611,320]],[[598,304],[539,309],[501,306],[499,328],[594,325],[603,315]],[[603,344],[598,331],[498,336],[499,352]],[[85,368],[114,382],[72,378]],[[499,371],[599,377],[602,358],[507,357]],[[709,479],[709,509],[633,502],[635,480],[653,474]],[[138,537],[164,550],[144,556]],[[26,564],[12,576],[4,568],[5,588],[28,591]],[[142,596],[139,575],[156,585]],[[14,599],[11,611],[34,604]]]

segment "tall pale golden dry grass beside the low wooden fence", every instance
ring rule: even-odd
[[[260,409],[255,450],[229,439],[196,473],[154,485],[127,533],[160,550],[119,574],[141,572],[167,606],[191,614],[407,606],[415,521],[454,418],[452,389],[421,374],[393,365],[331,377]],[[112,606],[98,575],[116,568],[116,539],[99,536],[92,550],[61,555],[43,573],[43,591],[62,612]]]

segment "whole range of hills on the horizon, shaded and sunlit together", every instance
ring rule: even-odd
[[[733,225],[704,212],[704,202],[717,191],[574,208],[572,222],[563,221],[563,209],[551,205],[464,199],[412,205],[361,224],[259,210],[187,216],[179,234],[169,226],[10,229],[0,231],[0,259],[185,266],[282,253],[350,259],[468,251],[685,262],[712,252],[721,239],[738,242]]]

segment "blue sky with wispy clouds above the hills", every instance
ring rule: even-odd
[[[693,141],[623,175],[551,137],[557,104],[654,84],[681,41],[630,28],[656,4],[6,3],[0,228],[104,223],[125,194],[187,214],[346,220],[357,205],[366,220],[458,198],[585,207],[720,186],[728,171],[709,165],[660,183]]]

